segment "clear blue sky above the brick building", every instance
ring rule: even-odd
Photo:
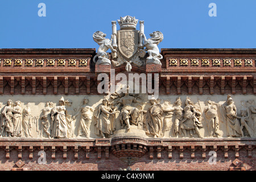
[[[256,48],[255,0],[1,0],[0,48],[98,48],[92,34],[110,39],[112,20],[126,15],[144,20],[146,36],[163,32],[159,48]]]

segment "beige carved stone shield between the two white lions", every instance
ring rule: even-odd
[[[118,31],[118,50],[127,60],[138,51],[138,30]]]

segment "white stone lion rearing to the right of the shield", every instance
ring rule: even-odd
[[[144,46],[146,49],[141,49],[140,51],[146,54],[148,52],[147,63],[161,64],[160,59],[163,59],[163,56],[159,53],[158,44],[163,40],[163,34],[160,31],[154,31],[150,34],[151,38],[147,39],[146,35],[143,34]]]

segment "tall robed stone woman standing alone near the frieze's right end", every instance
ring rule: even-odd
[[[237,117],[237,107],[234,105],[233,99],[228,95],[226,102],[221,106],[222,117],[226,122],[228,137],[240,137],[240,123]]]

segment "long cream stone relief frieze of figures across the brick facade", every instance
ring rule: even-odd
[[[237,109],[230,95],[226,101],[196,104],[189,97],[181,98],[172,103],[115,92],[91,106],[89,97],[84,97],[81,105],[61,97],[59,104],[40,104],[39,117],[33,112],[39,105],[8,100],[1,108],[0,134],[44,139],[112,138],[115,131],[129,134],[138,130],[149,138],[255,137],[254,100],[242,100]]]

